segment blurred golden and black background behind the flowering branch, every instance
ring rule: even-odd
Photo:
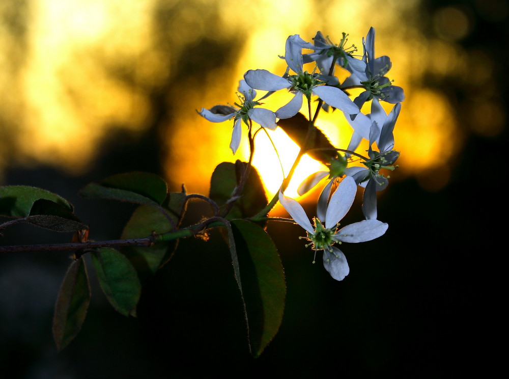
[[[278,55],[289,35],[310,41],[320,30],[338,43],[346,32],[362,51],[374,26],[376,56],[391,58],[387,76],[406,100],[394,130],[400,167],[379,196],[389,230],[344,247],[351,273],[343,282],[311,264],[299,227],[269,224],[287,304],[260,358],[249,356],[228,252],[221,242],[185,240],[145,287],[135,319],[115,313],[92,280],[83,329],[62,353],[51,318],[69,258],[0,256],[0,376],[460,377],[494,369],[501,352],[489,341],[503,332],[496,239],[504,221],[493,216],[505,209],[508,16],[505,0],[3,0],[0,184],[60,194],[95,240],[118,238],[134,207],[80,199],[88,182],[142,170],[172,191],[185,183],[207,195],[216,165],[247,159],[247,139],[235,156],[228,147],[230,122],[196,111],[234,103],[248,69],[284,73]],[[317,125],[342,147],[351,129],[340,116]],[[254,165],[270,197],[282,174],[262,137]],[[271,137],[288,170],[298,148],[280,130]],[[292,188],[317,170],[303,159]],[[300,199],[308,214],[318,193]],[[362,218],[356,205],[352,221]],[[26,226],[4,234],[2,245],[71,237]]]

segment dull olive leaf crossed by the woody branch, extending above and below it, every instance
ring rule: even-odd
[[[148,205],[137,207],[122,232],[121,238],[142,238],[149,236],[153,231],[157,234],[166,233],[178,226],[181,213],[184,211],[186,195],[172,192],[163,202],[168,212],[170,222],[159,210]],[[142,281],[150,278],[172,256],[178,240],[157,243],[152,247],[125,248],[122,252],[129,258]]]

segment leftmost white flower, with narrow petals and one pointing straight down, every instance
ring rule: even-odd
[[[230,148],[234,154],[240,145],[242,121],[244,121],[248,127],[250,127],[248,120],[252,120],[270,130],[274,130],[277,127],[274,112],[268,109],[254,107],[256,105],[261,105],[261,103],[254,100],[256,91],[249,87],[244,79],[239,82],[239,92],[243,94],[238,95],[240,104],[235,103],[239,109],[230,105],[216,105],[210,110],[202,108],[200,111],[200,115],[211,122],[234,120],[232,141],[230,142]]]

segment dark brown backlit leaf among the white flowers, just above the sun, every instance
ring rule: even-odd
[[[302,113],[297,113],[295,116],[288,119],[280,119],[277,122],[277,126],[285,131],[300,148],[304,148],[307,133],[309,130],[309,120],[304,117]],[[335,147],[330,143],[329,139],[325,136],[323,131],[318,129],[316,126],[312,126],[309,134],[307,146],[309,149],[321,149],[321,150],[309,150],[307,155],[323,163],[324,165],[329,164],[331,158],[337,156]],[[322,150],[323,149],[323,150]]]

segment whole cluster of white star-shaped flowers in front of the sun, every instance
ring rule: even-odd
[[[327,171],[311,174],[298,190],[299,195],[303,195],[324,179],[327,180],[318,199],[314,224],[302,206],[284,194],[291,177],[282,182],[275,199],[279,200],[293,221],[307,232],[306,238],[310,243],[306,246],[312,247],[315,255],[317,251],[323,251],[324,266],[336,280],[343,280],[350,270],[345,255],[336,245],[342,242],[370,241],[382,236],[388,228],[386,223],[378,220],[377,192],[387,186],[388,176],[384,175],[384,171],[394,170],[394,163],[400,155],[393,150],[393,130],[401,111],[401,102],[405,98],[403,89],[393,86],[392,80],[386,76],[392,66],[390,59],[387,56],[375,57],[375,29],[371,28],[366,38],[362,39],[361,55],[355,55],[357,48],[348,45],[347,37],[343,33],[340,42],[335,44],[321,32],[317,32],[313,42],[307,42],[299,35],[289,36],[285,56],[281,57],[287,64],[282,75],[264,69],[248,70],[239,84],[239,103],[235,103],[236,107],[216,105],[200,112],[200,115],[212,122],[234,120],[230,147],[235,153],[240,144],[242,122],[249,131],[252,121],[273,130],[277,127],[277,119],[295,118],[304,99],[307,101],[308,125],[305,130],[296,133],[304,136],[301,141],[296,141],[301,147],[296,164],[300,156],[312,150],[328,150],[331,157],[327,162],[322,161]],[[314,67],[306,69],[307,65]],[[339,70],[347,73],[343,82],[340,75],[336,76]],[[275,111],[258,107],[262,105],[259,100],[285,89],[293,94],[288,103],[282,104]],[[259,100],[254,100],[256,90],[267,92]],[[352,99],[350,92],[358,92],[358,95]],[[315,114],[312,114],[311,105],[314,101],[318,102],[318,106]],[[369,101],[371,112],[363,114],[364,104],[369,104]],[[388,114],[381,102],[393,104]],[[315,126],[319,112],[336,109],[341,111],[340,115],[346,118],[353,129],[349,145],[341,148],[330,144],[317,145],[314,142],[319,140],[316,135],[322,133]],[[281,122],[280,126],[285,130],[283,124],[288,123]],[[322,140],[328,142],[327,138]],[[369,144],[367,156],[356,152],[362,140]],[[339,222],[350,210],[358,186],[363,188],[364,220],[340,229]]]

